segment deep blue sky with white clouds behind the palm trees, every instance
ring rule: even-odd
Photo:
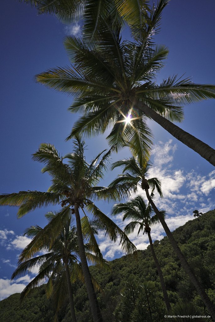
[[[203,4],[202,4],[203,3]],[[195,83],[215,83],[213,35],[215,2],[213,0],[172,0],[163,12],[157,43],[169,50],[166,67],[157,77],[158,83],[169,75],[191,76]],[[38,16],[29,5],[14,0],[3,2],[1,11],[1,154],[0,193],[21,190],[46,191],[49,177],[41,174],[41,164],[31,160],[41,142],[54,144],[62,155],[72,150],[65,142],[77,116],[67,107],[71,98],[46,89],[33,80],[35,74],[68,64],[62,40],[67,34],[78,33],[79,24],[64,26],[55,17]],[[181,127],[215,148],[215,101],[186,106]],[[162,180],[163,200],[159,207],[167,211],[167,223],[173,230],[193,219],[194,209],[206,212],[215,208],[215,171],[201,156],[171,137],[154,122],[149,123],[154,133],[150,173]],[[92,159],[107,148],[105,137],[87,140],[86,156]],[[113,161],[128,157],[122,150]],[[117,171],[109,173],[104,185],[110,183]],[[99,203],[110,214],[111,206]],[[51,209],[47,209],[51,210]],[[46,210],[37,210],[16,219],[17,209],[0,208],[0,299],[22,291],[33,274],[10,283],[17,256],[29,242],[22,237],[25,228],[33,224],[44,226]],[[121,216],[115,218],[121,224]],[[153,239],[164,232],[160,226],[152,231]],[[139,249],[148,245],[147,236],[131,235]],[[111,260],[122,256],[118,244],[99,237],[103,255]]]

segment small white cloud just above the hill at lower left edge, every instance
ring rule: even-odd
[[[0,279],[0,300],[7,298],[11,294],[22,292],[30,281],[31,278],[29,275],[25,275],[13,281],[10,279]]]

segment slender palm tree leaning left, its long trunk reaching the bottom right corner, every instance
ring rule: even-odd
[[[154,184],[152,182],[152,179],[146,179],[147,172],[150,168],[150,164],[146,163],[145,166],[142,166],[138,160],[135,157],[130,157],[129,159],[120,160],[115,162],[112,165],[112,169],[115,167],[122,166],[123,171],[122,175],[119,175],[118,178],[116,178],[110,186],[117,185],[118,187],[121,185],[123,188],[123,185],[127,185],[130,183],[130,185],[133,185],[133,190],[137,191],[137,188],[141,187],[142,190],[145,190],[146,196],[148,199],[149,204],[151,205],[152,209],[157,215],[157,218],[159,219],[160,223],[162,224],[164,231],[166,232],[166,235],[175,250],[176,255],[178,256],[179,260],[182,263],[182,266],[185,270],[185,272],[190,277],[194,287],[196,288],[197,292],[199,293],[203,303],[207,307],[208,311],[210,312],[212,318],[215,320],[215,307],[214,304],[211,302],[210,298],[206,294],[202,284],[198,281],[195,274],[193,273],[192,269],[190,268],[190,265],[188,264],[187,260],[185,259],[182,251],[180,250],[178,244],[176,243],[172,233],[169,230],[169,227],[167,226],[164,217],[162,216],[162,213],[157,209],[154,201],[152,200],[148,189],[157,189],[158,193],[161,196],[161,186],[160,181],[157,178],[152,178],[154,181]],[[155,180],[156,179],[156,180]],[[158,180],[158,181],[157,181]],[[156,185],[157,182],[157,185]],[[159,192],[160,191],[160,192]]]

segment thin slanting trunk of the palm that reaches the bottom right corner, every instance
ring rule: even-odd
[[[199,293],[199,295],[202,299],[202,302],[205,304],[206,308],[208,309],[208,312],[210,313],[211,317],[215,321],[215,307],[214,307],[213,303],[211,302],[208,295],[205,293],[205,290],[202,287],[202,284],[197,280],[195,274],[191,270],[190,265],[188,264],[182,251],[178,247],[178,244],[176,243],[172,233],[170,232],[169,227],[167,226],[164,218],[161,216],[159,210],[157,209],[156,205],[152,201],[152,198],[150,197],[149,192],[148,192],[148,188],[145,188],[145,191],[146,191],[147,199],[148,199],[149,203],[151,204],[154,212],[157,214],[157,217],[158,217],[159,221],[161,222],[161,224],[166,232],[166,235],[167,235],[169,241],[171,242],[173,249],[175,250],[176,255],[178,256],[179,260],[181,261],[185,272],[190,277],[193,285],[195,286],[197,292]]]

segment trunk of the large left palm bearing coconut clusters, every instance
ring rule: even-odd
[[[81,230],[81,220],[80,220],[78,208],[79,208],[78,204],[75,203],[78,248],[79,248],[79,254],[80,254],[80,259],[81,259],[81,266],[82,266],[82,270],[83,270],[83,275],[84,275],[84,279],[85,279],[86,290],[87,290],[94,322],[103,322],[102,314],[101,314],[101,311],[99,308],[98,300],[97,300],[97,297],[95,294],[93,282],[91,279],[89,267],[88,267],[86,256],[85,256],[84,241],[83,241],[83,235],[82,235],[82,230]]]

